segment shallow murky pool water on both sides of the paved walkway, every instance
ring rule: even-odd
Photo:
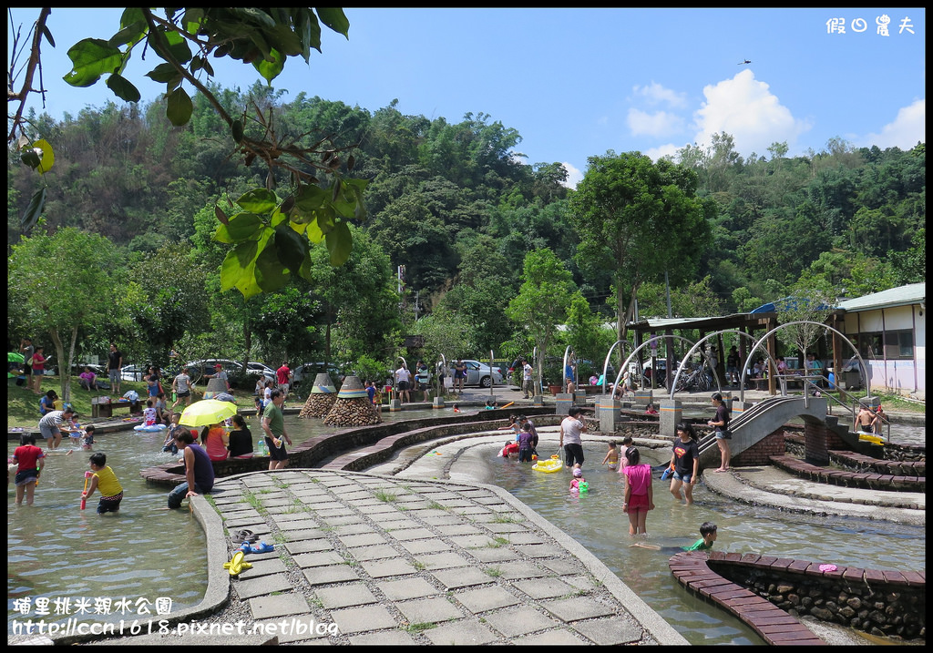
[[[438,411],[403,410],[383,413],[383,419],[397,421],[432,414],[437,416]],[[300,420],[294,415],[285,419],[296,441],[334,430],[317,420]],[[255,440],[258,425],[255,421],[247,424]],[[7,487],[8,624],[13,619],[23,620],[23,613],[15,608],[23,600],[29,601],[30,616],[47,622],[66,618],[55,614],[56,600],[69,600],[74,605],[82,598],[94,601],[105,597],[115,602],[126,598],[135,605],[171,597],[173,611],[202,600],[207,572],[201,526],[185,508],[167,510],[167,488],[148,485],[139,475],[143,468],[173,460],[170,454],[160,452],[162,434],[127,430],[96,439],[94,451],[107,454],[107,463],[124,488],[117,515],[97,515],[96,497],[86,510],[79,509],[89,452],[63,455],[67,442],[61,452],[49,456],[35,491],[35,506],[14,506],[14,488],[11,484]],[[8,443],[8,454],[16,444]],[[501,443],[483,446],[489,450],[481,456],[488,465],[485,472],[497,484],[590,549],[689,641],[760,643],[754,632],[737,619],[676,586],[667,567],[670,554],[628,546],[632,541],[628,520],[619,509],[620,477],[598,466],[606,452],[605,444],[592,442],[586,446],[592,491],[584,496],[566,492],[569,481],[565,475],[542,475],[527,465],[497,458]],[[659,462],[666,454],[645,450],[644,455]],[[666,483],[656,483],[657,509],[648,516],[648,533],[655,544],[689,544],[699,537],[701,522],[715,521],[719,550],[767,552],[878,569],[926,568],[923,528],[884,521],[827,520],[734,505],[702,487],[695,491],[696,505],[684,507],[676,505],[665,488]],[[49,599],[49,616],[36,616],[36,599]],[[95,615],[94,620],[120,617]]]

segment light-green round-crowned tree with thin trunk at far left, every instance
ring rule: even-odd
[[[7,303],[26,307],[25,326],[45,333],[55,347],[62,398],[71,398],[71,366],[78,334],[106,317],[117,287],[115,248],[78,229],[37,233],[13,247],[7,269]],[[12,313],[12,311],[11,311]]]

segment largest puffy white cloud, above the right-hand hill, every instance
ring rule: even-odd
[[[704,87],[706,101],[694,113],[698,132],[693,141],[708,146],[714,133],[727,132],[744,156],[764,154],[775,141],[787,141],[793,149],[797,137],[811,125],[794,118],[768,88],[749,69]]]

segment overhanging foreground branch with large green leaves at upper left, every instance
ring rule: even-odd
[[[40,173],[49,170],[54,155],[46,141],[35,141],[23,132],[21,112],[28,93],[34,90],[32,78],[39,65],[42,40],[54,46],[45,24],[48,16],[49,9],[40,11],[29,48],[25,83],[20,93],[10,93],[8,99],[19,100],[21,107],[11,120],[7,143],[12,144],[20,136],[17,143],[23,150],[23,163]],[[166,7],[160,13],[148,7],[128,7],[120,18],[120,29],[109,40],[85,38],[68,50],[74,67],[64,76],[66,82],[88,87],[106,76],[107,87],[130,103],[139,102],[141,97],[124,76],[132,52],[137,49],[152,54],[149,61],[154,58],[161,63],[146,76],[165,84],[166,117],[173,125],[188,124],[194,103],[186,87],[197,90],[228,126],[232,151],[242,155],[246,165],[262,160],[269,166],[268,190],[275,184],[273,169],[287,171],[296,180],[281,204],[274,201],[270,206],[268,196],[258,195],[248,201],[244,207],[244,213],[251,214],[248,217],[241,213],[228,218],[217,211],[224,242],[237,245],[235,257],[227,259],[221,275],[225,285],[237,287],[245,298],[283,287],[288,274],[299,271],[307,262],[310,243],[326,240],[332,264],[341,265],[352,248],[347,221],[365,215],[362,192],[366,182],[341,174],[344,163],[345,169],[353,168],[354,157],[351,154],[344,160],[343,150],[328,138],[305,146],[300,136],[279,136],[272,113],[264,112],[256,103],[244,107],[240,117],[231,115],[199,77],[214,75],[210,57],[230,57],[252,63],[260,75],[272,82],[288,57],[300,55],[308,62],[311,49],[320,49],[321,22],[344,36],[350,28],[341,8]],[[15,74],[11,67],[11,80]],[[25,228],[31,228],[42,215],[45,198],[45,188],[35,193],[22,218]],[[237,218],[234,229],[226,229]]]

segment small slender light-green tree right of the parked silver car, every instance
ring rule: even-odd
[[[506,315],[535,341],[539,374],[557,325],[566,319],[575,290],[573,275],[550,249],[529,252],[525,257],[522,287],[518,296],[508,302]]]

